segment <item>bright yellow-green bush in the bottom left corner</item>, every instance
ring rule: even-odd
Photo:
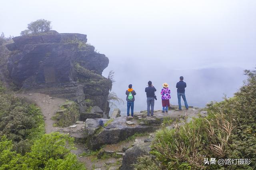
[[[12,141],[6,136],[0,138],[0,169],[50,169],[50,170],[83,170],[78,162],[74,149],[74,138],[54,132],[44,134],[36,140],[24,156],[12,151]]]

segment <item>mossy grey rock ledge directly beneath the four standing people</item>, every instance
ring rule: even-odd
[[[127,139],[135,133],[153,132],[161,128],[163,122],[170,123],[172,120],[188,120],[198,117],[198,109],[189,108],[185,111],[170,110],[168,113],[156,111],[154,116],[147,116],[147,113],[134,113],[134,118],[126,116],[114,119],[101,119],[104,126],[99,124],[100,119],[87,119],[85,121],[84,138],[91,150],[97,150],[105,144],[116,144]],[[185,121],[186,122],[186,121]],[[167,125],[166,125],[167,126]],[[170,126],[169,128],[173,128]],[[149,140],[146,140],[150,142]]]

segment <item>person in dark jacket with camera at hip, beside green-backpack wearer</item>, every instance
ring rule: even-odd
[[[152,85],[152,82],[148,81],[148,87],[145,88],[145,92],[147,94],[148,116],[150,112],[150,105],[151,105],[151,116],[154,115],[155,91],[156,91],[156,88]]]

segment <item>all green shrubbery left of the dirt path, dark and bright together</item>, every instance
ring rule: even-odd
[[[74,138],[44,134],[41,110],[0,89],[0,170],[84,169],[70,153]]]

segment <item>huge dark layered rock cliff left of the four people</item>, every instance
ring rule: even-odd
[[[6,45],[12,51],[8,73],[18,89],[76,101],[81,114],[98,106],[108,115],[112,82],[101,74],[109,60],[86,43],[86,35],[50,31],[13,40]]]

